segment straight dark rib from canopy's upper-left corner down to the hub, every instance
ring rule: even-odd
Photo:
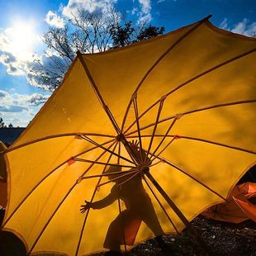
[[[81,64],[83,65],[83,69],[84,69],[85,73],[87,74],[89,81],[92,84],[92,88],[93,88],[94,92],[96,93],[99,102],[102,105],[102,108],[107,113],[107,116],[108,116],[109,120],[111,121],[112,126],[114,126],[117,134],[121,134],[121,130],[120,130],[119,126],[117,125],[116,120],[115,120],[114,116],[112,115],[110,109],[107,107],[107,104],[104,102],[103,97],[102,97],[99,89],[97,88],[97,84],[95,83],[94,79],[92,78],[92,73],[88,69],[88,65],[85,63],[85,60],[83,59],[82,54],[78,51],[77,55],[78,55],[78,59],[80,60]]]

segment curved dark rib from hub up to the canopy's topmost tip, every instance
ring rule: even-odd
[[[173,50],[183,39],[185,39],[188,35],[190,35],[193,31],[195,31],[197,29],[197,27],[201,26],[201,24],[204,22],[204,21],[207,21],[209,18],[211,18],[211,15],[209,15],[208,17],[205,17],[204,19],[202,19],[201,21],[198,21],[196,23],[195,26],[193,26],[189,31],[187,31],[183,36],[181,36],[180,38],[178,38],[178,40],[176,40],[173,45],[171,45],[167,50],[164,51],[164,54],[163,55],[160,55],[159,59],[157,59],[154,64],[149,68],[149,70],[145,73],[144,77],[140,80],[140,83],[138,84],[138,86],[135,88],[135,93],[138,92],[140,86],[142,85],[142,83],[144,83],[145,79],[148,78],[149,76],[149,73],[152,72],[152,70],[159,64],[159,62],[164,59],[164,57],[166,55],[168,55],[168,53]],[[130,110],[130,106],[131,106],[131,103],[132,103],[132,98],[130,99],[130,102],[126,108],[126,113],[125,113],[125,116],[124,116],[124,120],[122,122],[122,126],[121,126],[121,130],[123,130],[124,126],[125,126],[125,123],[126,123],[126,117],[128,115],[128,111]]]

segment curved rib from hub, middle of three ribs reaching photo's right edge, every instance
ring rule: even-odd
[[[186,116],[186,115],[189,115],[189,114],[192,114],[192,113],[196,113],[196,112],[200,112],[200,111],[206,111],[206,110],[211,110],[211,109],[214,109],[214,108],[218,108],[218,107],[229,107],[229,106],[234,106],[234,105],[239,105],[239,104],[248,104],[248,103],[254,103],[256,102],[256,99],[252,99],[252,100],[247,100],[247,101],[239,101],[239,102],[227,102],[227,103],[222,103],[222,104],[216,104],[216,105],[212,105],[212,106],[208,106],[208,107],[201,107],[201,108],[196,108],[196,109],[192,109],[192,110],[189,110],[189,111],[183,111],[182,113],[179,113],[179,114],[175,114],[173,116],[168,116],[162,120],[159,121],[159,123],[162,123],[164,121],[168,121],[168,120],[171,120],[171,119],[174,119],[174,118],[181,118],[182,116]],[[141,116],[140,116],[141,117]],[[139,118],[140,118],[139,117]],[[133,123],[130,128],[134,125],[135,123]],[[145,130],[145,129],[148,129],[150,127],[154,126],[154,123],[151,123],[147,126],[143,126],[141,127],[140,130]],[[129,128],[129,129],[130,129]],[[128,131],[128,130],[127,130]],[[137,130],[133,130],[131,131],[130,133],[126,134],[126,136],[129,136],[129,135],[133,135],[137,132]]]

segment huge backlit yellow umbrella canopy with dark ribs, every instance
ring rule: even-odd
[[[5,153],[3,230],[28,254],[87,255],[111,239],[129,250],[225,201],[256,159],[255,47],[206,18],[121,49],[78,53]]]

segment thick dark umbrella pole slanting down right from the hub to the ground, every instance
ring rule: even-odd
[[[164,189],[159,185],[159,183],[154,179],[154,177],[149,172],[145,172],[145,175],[149,178],[151,183],[154,184],[154,187],[159,191],[159,193],[164,197],[165,201],[168,202],[168,205],[171,206],[173,211],[177,214],[180,220],[183,221],[184,225],[186,225],[187,229],[191,232],[191,234],[197,239],[198,244],[201,244],[201,247],[205,249],[205,251],[209,255],[213,255],[211,248],[206,244],[205,240],[201,238],[201,235],[197,231],[197,229],[193,228],[191,223],[187,220],[186,216],[183,215],[183,212],[178,209],[178,206],[175,205],[173,200],[168,197],[168,194],[164,191]]]

